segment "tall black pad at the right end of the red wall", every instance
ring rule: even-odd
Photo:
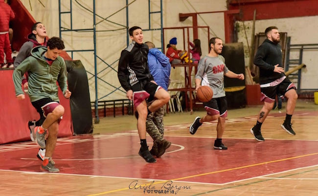
[[[92,133],[91,98],[86,70],[80,60],[65,61],[74,134]]]

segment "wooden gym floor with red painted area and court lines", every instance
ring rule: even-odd
[[[318,195],[318,105],[298,100],[295,136],[280,127],[285,112],[272,111],[262,126],[265,142],[250,134],[260,108],[228,111],[228,150],[213,149],[215,122],[189,134],[189,124],[204,111],[168,114],[165,138],[172,146],[155,164],[137,154],[133,116],[103,118],[93,135],[59,138],[53,156],[59,173],[41,172],[32,142],[0,145],[0,195]],[[150,137],[147,142],[151,148]]]

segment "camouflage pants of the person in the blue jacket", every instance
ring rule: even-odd
[[[164,125],[163,125],[163,115],[165,111],[165,105],[160,107],[155,112],[151,113],[147,117],[146,121],[146,131],[147,133],[152,137],[152,139],[155,141],[162,141],[163,140],[163,131],[164,131]]]

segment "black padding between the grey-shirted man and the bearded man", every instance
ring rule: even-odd
[[[234,73],[245,74],[243,43],[224,44],[222,56],[225,58],[227,68]],[[246,105],[245,79],[229,78],[224,76],[228,108],[241,108]],[[241,88],[243,87],[243,88]],[[232,89],[227,91],[227,89]]]

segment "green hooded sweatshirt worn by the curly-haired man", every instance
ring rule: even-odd
[[[44,58],[47,48],[35,47],[31,50],[31,56],[27,57],[13,72],[13,82],[16,96],[24,94],[21,88],[22,76],[28,73],[28,95],[31,102],[42,98],[51,98],[59,101],[58,87],[63,92],[68,89],[66,65],[62,57],[58,56],[50,66]]]

